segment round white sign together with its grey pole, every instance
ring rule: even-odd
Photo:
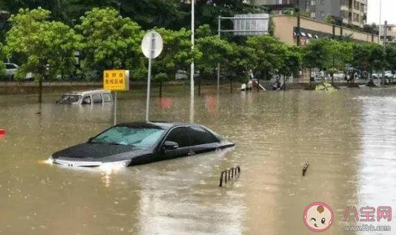
[[[142,51],[149,58],[149,74],[147,76],[147,103],[146,121],[149,121],[150,107],[150,83],[151,83],[151,60],[157,58],[163,51],[163,38],[156,31],[149,31],[142,40]]]

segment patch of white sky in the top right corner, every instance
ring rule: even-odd
[[[368,24],[379,23],[379,2],[381,0],[368,0]],[[396,0],[382,0],[382,23],[396,24]]]

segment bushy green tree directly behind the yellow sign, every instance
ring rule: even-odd
[[[94,8],[81,17],[76,30],[83,35],[83,67],[130,69],[137,78],[144,78],[145,64],[140,50],[143,32],[128,17],[112,8]]]

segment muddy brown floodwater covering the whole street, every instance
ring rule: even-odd
[[[37,96],[0,96],[0,234],[306,235],[315,233],[302,214],[317,201],[334,212],[323,234],[394,234],[345,232],[356,222],[344,218],[347,207],[396,209],[395,88],[226,91],[195,98],[194,119],[235,148],[117,170],[42,161],[108,128],[111,105],[56,105],[44,95],[35,114]],[[151,120],[188,121],[188,97],[154,97]],[[119,95],[117,110],[121,122],[144,120],[143,92]],[[237,165],[240,178],[220,189],[220,171]],[[395,221],[358,225],[396,230]]]

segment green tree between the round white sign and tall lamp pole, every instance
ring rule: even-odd
[[[154,81],[160,84],[159,96],[163,93],[163,82],[174,80],[176,72],[188,70],[192,62],[191,31],[181,28],[180,31],[171,31],[165,28],[156,28],[163,37],[164,48],[161,55],[153,63]]]

